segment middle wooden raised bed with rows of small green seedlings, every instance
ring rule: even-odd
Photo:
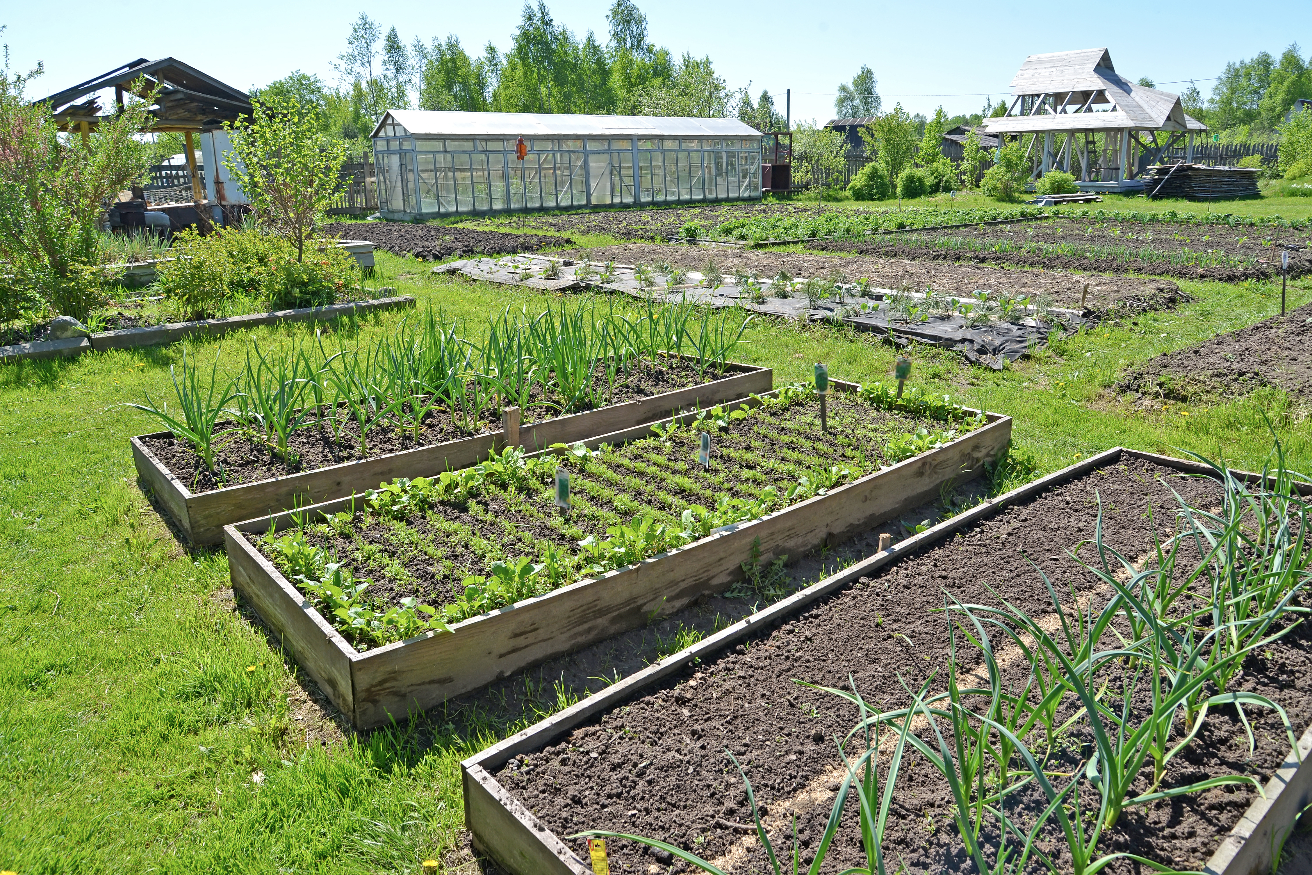
[[[827,436],[816,400],[789,390],[598,436],[559,457],[502,454],[474,480],[395,484],[227,526],[232,582],[354,725],[378,725],[722,592],[745,561],[905,513],[980,474],[1010,438],[1008,417],[836,388]],[[938,429],[970,430],[908,433],[935,417],[947,420]],[[707,470],[697,462],[701,430],[716,436]],[[896,463],[880,470],[882,459]],[[547,484],[556,466],[573,478],[565,514]],[[345,605],[341,594],[366,576],[375,601]],[[370,649],[401,634],[384,609],[404,598],[438,605],[428,615],[447,622]],[[413,630],[426,615],[415,602],[409,610]]]

